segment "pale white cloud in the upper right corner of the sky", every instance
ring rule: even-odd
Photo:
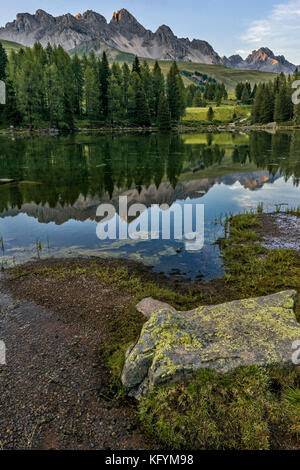
[[[274,5],[265,18],[250,24],[241,39],[248,47],[269,47],[300,64],[300,0]]]

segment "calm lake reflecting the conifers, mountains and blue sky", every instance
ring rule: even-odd
[[[226,215],[261,203],[265,211],[300,206],[300,133],[1,136],[0,180],[3,267],[36,257],[119,256],[209,280],[222,275],[215,241]],[[112,203],[118,218],[119,196],[147,208],[204,204],[204,247],[100,240],[97,208]]]

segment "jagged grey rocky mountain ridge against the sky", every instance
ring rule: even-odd
[[[122,9],[106,18],[92,10],[76,16],[54,17],[43,10],[34,15],[19,13],[11,23],[0,28],[0,39],[15,41],[26,46],[40,42],[43,46],[60,44],[68,51],[76,51],[102,41],[121,52],[159,60],[181,60],[204,64],[225,65],[243,70],[291,73],[296,66],[283,56],[275,56],[268,48],[253,51],[247,59],[239,55],[220,57],[206,41],[178,38],[167,25],[152,32],[142,26],[134,16]]]

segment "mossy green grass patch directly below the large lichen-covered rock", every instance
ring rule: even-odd
[[[139,404],[145,432],[172,450],[269,450],[293,446],[299,429],[299,371],[209,370],[156,388]]]

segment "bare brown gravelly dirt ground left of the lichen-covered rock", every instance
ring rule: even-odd
[[[130,297],[85,276],[24,278],[10,294],[2,279],[1,290],[0,449],[146,449],[98,355],[106,316]]]

